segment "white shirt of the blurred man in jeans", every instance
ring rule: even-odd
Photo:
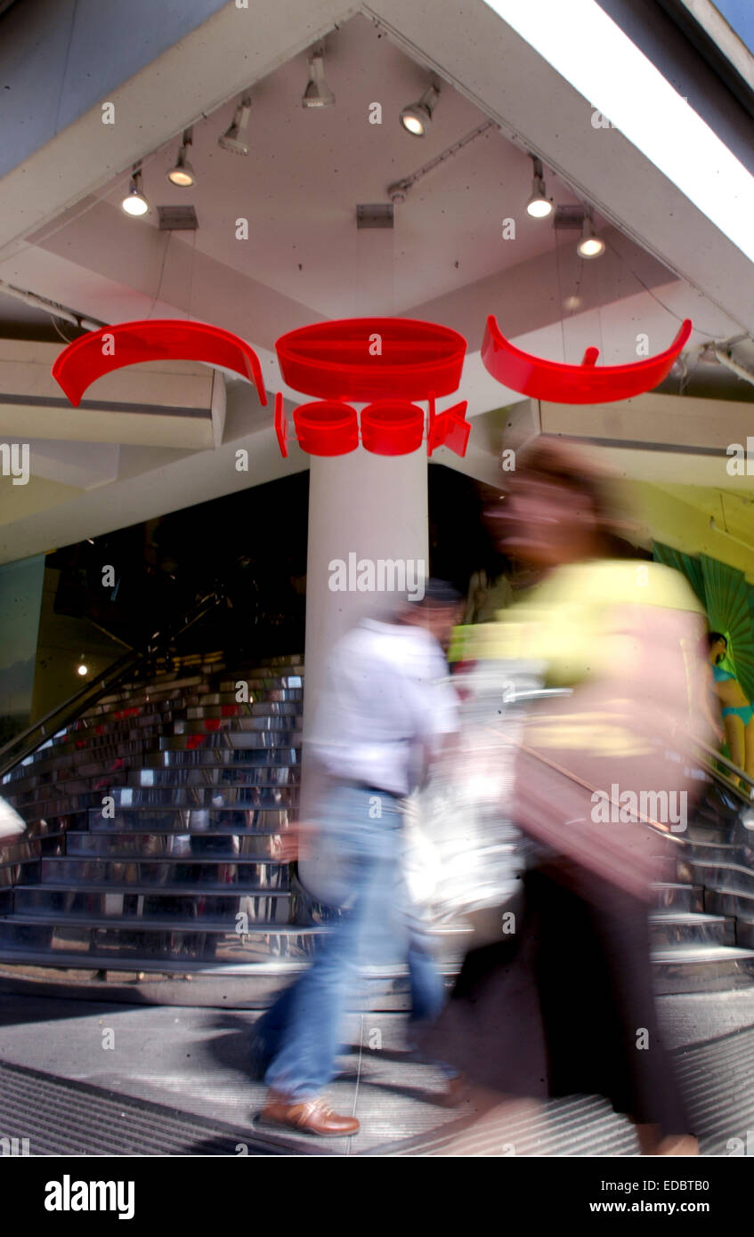
[[[392,794],[412,789],[416,743],[458,729],[458,696],[440,643],[414,623],[363,618],[334,647],[311,747],[333,777]]]

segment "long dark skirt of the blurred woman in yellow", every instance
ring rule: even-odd
[[[480,1086],[602,1095],[691,1133],[652,995],[648,907],[567,860],[529,871],[515,936],[467,954],[425,1051]]]

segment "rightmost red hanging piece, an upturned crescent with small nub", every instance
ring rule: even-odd
[[[666,379],[691,335],[691,319],[686,318],[669,349],[630,365],[596,367],[598,348],[587,348],[581,365],[561,365],[532,356],[515,348],[500,332],[493,314],[487,319],[482,341],[484,367],[503,386],[532,400],[552,403],[612,403],[629,400],[659,386]]]

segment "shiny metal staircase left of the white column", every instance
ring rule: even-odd
[[[0,852],[0,957],[302,962],[321,929],[298,923],[276,857],[297,808],[301,700],[297,658],[126,683],[6,773],[30,828]]]

